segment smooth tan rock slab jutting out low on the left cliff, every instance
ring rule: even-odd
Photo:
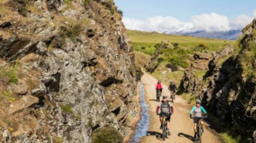
[[[24,96],[14,102],[12,102],[10,104],[9,110],[7,112],[8,112],[8,114],[12,114],[16,111],[30,107],[31,105],[36,104],[38,101],[39,101],[39,99],[32,95]]]

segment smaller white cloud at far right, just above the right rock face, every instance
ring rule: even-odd
[[[251,23],[252,20],[253,17],[240,14],[230,21],[230,25],[233,30],[238,30],[245,27],[247,24]]]

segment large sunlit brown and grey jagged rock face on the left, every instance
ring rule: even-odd
[[[26,122],[1,126],[2,142],[91,142],[92,131],[106,125],[131,134],[138,114],[131,44],[118,13],[83,2],[28,1],[19,4],[32,7],[26,14],[1,2],[8,12],[0,13],[0,58],[19,59],[25,81],[9,89],[35,112],[17,107],[11,116]]]

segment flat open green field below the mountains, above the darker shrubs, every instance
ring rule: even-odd
[[[193,50],[200,43],[207,47],[208,51],[220,51],[224,45],[232,44],[234,41],[219,40],[209,38],[197,38],[191,36],[180,35],[167,35],[152,32],[141,32],[127,30],[127,34],[132,41],[134,50],[141,51],[146,54],[153,55],[155,51],[155,45],[161,43],[161,41],[169,41],[171,43],[178,43],[180,47]],[[145,47],[142,49],[141,47]]]

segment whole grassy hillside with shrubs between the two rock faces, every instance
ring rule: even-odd
[[[220,51],[223,47],[225,47],[225,45],[233,44],[235,42],[229,40],[167,35],[131,30],[127,30],[127,34],[132,41],[134,50],[136,51],[136,63],[140,66],[144,66],[149,62],[149,58],[146,56],[146,54],[152,56],[156,50],[156,47],[159,46],[161,41],[169,41],[168,43],[172,43],[167,45],[168,48],[159,51],[161,62],[152,75],[157,79],[162,80],[165,84],[168,84],[170,80],[173,80],[177,85],[179,85],[183,77],[185,71],[184,68],[189,65],[189,55],[193,55],[197,51]],[[176,64],[178,66],[178,70],[165,72],[168,71],[166,64]],[[205,71],[202,72],[204,73]],[[199,74],[201,76],[201,73]]]

